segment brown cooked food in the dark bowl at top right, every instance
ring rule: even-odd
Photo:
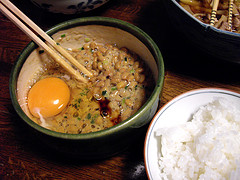
[[[213,1],[179,0],[179,4],[201,22],[210,24]],[[232,27],[229,27],[228,25],[229,1],[220,0],[218,5],[218,10],[217,10],[217,15],[215,18],[214,27],[221,30],[240,33],[239,7],[240,7],[240,1],[234,0],[233,9],[232,9]]]

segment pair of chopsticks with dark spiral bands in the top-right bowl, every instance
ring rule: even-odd
[[[219,0],[213,0],[212,13],[210,18],[210,25],[213,26],[217,14]],[[229,0],[228,6],[228,30],[232,30],[232,13],[233,13],[233,0]]]

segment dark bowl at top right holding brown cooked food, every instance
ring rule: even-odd
[[[222,61],[240,63],[240,34],[202,23],[179,5],[177,0],[164,0],[163,5],[174,32],[183,36],[196,49]]]

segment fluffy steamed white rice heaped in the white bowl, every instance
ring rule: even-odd
[[[240,111],[226,99],[214,99],[191,121],[156,135],[160,178],[240,179]]]

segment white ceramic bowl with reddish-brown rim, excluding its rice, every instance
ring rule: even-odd
[[[157,112],[148,128],[144,145],[145,167],[150,180],[160,179],[158,166],[160,142],[157,141],[155,132],[159,128],[185,123],[201,106],[210,103],[215,97],[226,98],[240,108],[239,93],[226,89],[203,88],[177,96]]]

